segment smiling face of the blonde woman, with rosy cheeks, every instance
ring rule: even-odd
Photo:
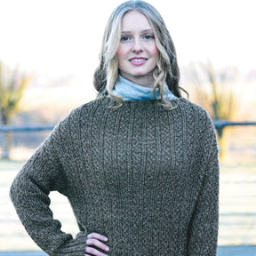
[[[153,86],[158,49],[153,29],[142,13],[124,14],[116,57],[121,76],[136,84]]]

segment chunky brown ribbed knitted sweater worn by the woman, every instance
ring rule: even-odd
[[[111,256],[216,255],[219,164],[210,116],[188,100],[93,100],[74,109],[12,183],[20,220],[45,252],[84,256],[108,236]],[[81,230],[53,220],[49,193],[68,197]]]

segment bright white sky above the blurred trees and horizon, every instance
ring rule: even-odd
[[[88,79],[122,0],[0,0],[0,59],[44,76]],[[148,0],[162,14],[180,66],[256,69],[255,0]]]

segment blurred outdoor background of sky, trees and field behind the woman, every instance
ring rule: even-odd
[[[10,203],[10,184],[52,126],[95,98],[92,76],[103,31],[110,13],[123,2],[0,0],[0,251],[38,250]],[[216,126],[219,245],[256,245],[255,1],[148,3],[169,28],[180,85],[189,99],[206,108],[214,121],[224,121]],[[234,122],[239,125],[229,125]],[[31,130],[42,125],[49,126]],[[19,130],[24,126],[30,132]],[[76,234],[67,204],[52,193],[54,217]]]

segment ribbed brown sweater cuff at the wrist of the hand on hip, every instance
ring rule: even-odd
[[[69,240],[62,244],[55,252],[49,253],[51,256],[84,256],[87,233],[81,231],[77,234],[76,239]]]

